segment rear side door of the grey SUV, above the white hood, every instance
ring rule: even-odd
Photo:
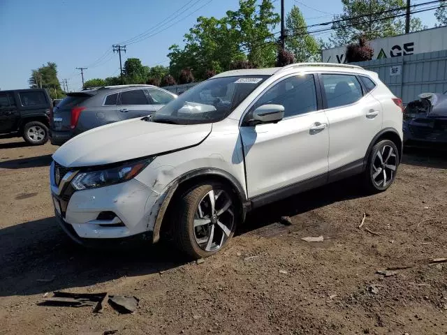
[[[154,105],[151,105],[144,89],[122,91],[118,99],[118,110],[123,120],[145,117],[154,112]]]

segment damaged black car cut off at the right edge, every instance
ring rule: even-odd
[[[447,144],[447,91],[418,97],[404,110],[404,144]]]

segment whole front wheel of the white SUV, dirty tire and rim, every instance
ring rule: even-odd
[[[211,211],[212,195],[214,215]],[[240,220],[240,208],[233,191],[217,182],[205,182],[190,188],[177,200],[175,211],[175,243],[180,251],[193,259],[221,251],[233,237]]]

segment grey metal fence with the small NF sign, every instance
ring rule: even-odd
[[[404,104],[418,94],[447,91],[447,50],[356,63],[379,74]]]

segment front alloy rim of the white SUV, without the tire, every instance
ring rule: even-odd
[[[221,189],[211,190],[198,203],[193,230],[198,246],[203,251],[217,251],[230,237],[235,223],[233,201]]]

